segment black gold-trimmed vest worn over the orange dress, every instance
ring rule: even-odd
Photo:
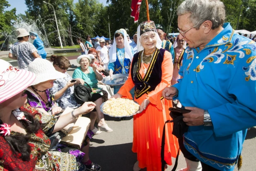
[[[142,79],[140,75],[141,58],[143,51],[136,53],[133,57],[131,76],[135,84],[135,98],[140,98],[143,94],[154,91],[162,80],[162,62],[164,60],[164,49],[157,49],[152,57],[147,72]]]

